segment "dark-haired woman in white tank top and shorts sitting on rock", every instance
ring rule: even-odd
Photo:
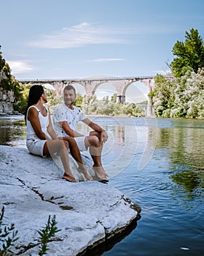
[[[44,103],[47,103],[47,94],[44,92],[43,87],[39,85],[31,86],[25,112],[27,128],[26,146],[28,151],[42,157],[58,153],[65,171],[63,178],[66,179],[66,181],[76,182],[75,178],[72,176],[68,162],[69,146],[74,159],[76,159],[76,162],[79,162],[79,172],[84,173],[87,179],[92,180],[92,177],[87,174],[85,167],[80,165],[82,157],[76,142],[74,140],[58,140],[52,128],[49,110],[44,106]]]

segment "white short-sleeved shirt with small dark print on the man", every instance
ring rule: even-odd
[[[79,121],[85,120],[85,118],[87,118],[85,113],[80,110],[80,108],[77,108],[76,106],[73,107],[74,109],[71,110],[65,104],[60,104],[55,108],[52,121],[53,127],[58,137],[68,136],[61,127],[60,122],[67,121],[69,127],[76,131]]]

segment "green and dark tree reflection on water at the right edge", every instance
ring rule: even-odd
[[[178,185],[172,186],[174,195],[183,198],[183,201],[203,197],[204,121],[172,119],[170,126],[163,127],[158,132],[157,148],[167,152],[170,178]]]

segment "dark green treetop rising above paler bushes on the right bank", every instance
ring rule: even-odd
[[[204,45],[197,29],[186,31],[185,42],[177,41],[173,46],[172,53],[177,56],[170,64],[173,75],[180,78],[183,73],[183,67],[191,67],[197,72],[199,68],[204,67]]]

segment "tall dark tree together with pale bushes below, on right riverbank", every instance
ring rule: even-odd
[[[204,45],[197,29],[186,31],[185,42],[173,46],[173,77],[157,75],[152,97],[157,117],[204,117]]]

